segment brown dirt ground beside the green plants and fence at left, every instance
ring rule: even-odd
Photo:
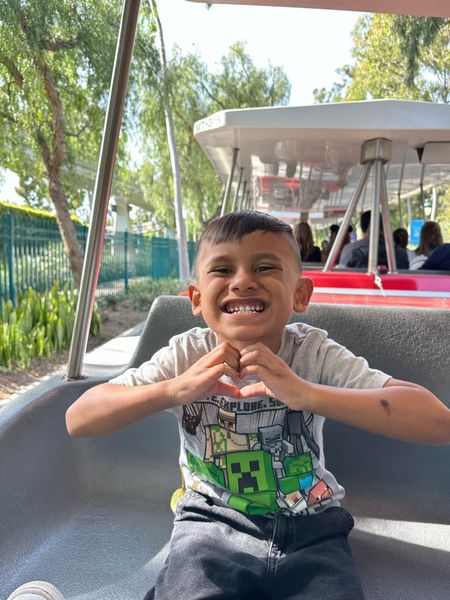
[[[138,308],[132,300],[123,300],[114,307],[102,311],[101,334],[89,338],[88,350],[104,344],[108,340],[144,321],[148,310]],[[16,369],[11,373],[0,373],[0,401],[8,400],[13,394],[24,391],[46,375],[62,369],[67,364],[69,351],[64,350],[50,358],[35,358],[26,370]]]

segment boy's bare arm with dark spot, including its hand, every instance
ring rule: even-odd
[[[311,383],[261,343],[242,350],[240,362],[242,376],[261,380],[241,389],[244,398],[269,394],[292,410],[307,410],[372,433],[410,442],[450,443],[450,410],[419,385],[395,379],[376,389]]]

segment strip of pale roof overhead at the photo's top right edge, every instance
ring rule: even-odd
[[[205,0],[192,0],[202,2]],[[212,4],[253,4],[299,8],[329,8],[361,12],[397,13],[419,17],[450,17],[448,0],[209,0]]]

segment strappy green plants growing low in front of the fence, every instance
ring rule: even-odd
[[[0,311],[0,370],[29,367],[36,356],[51,356],[67,348],[72,336],[77,295],[59,284],[39,294],[31,288],[20,296],[17,307],[4,301]],[[90,333],[98,335],[101,321],[95,306]]]

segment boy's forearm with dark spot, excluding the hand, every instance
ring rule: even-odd
[[[450,410],[419,386],[359,390],[310,384],[303,410],[404,441],[450,443]]]

